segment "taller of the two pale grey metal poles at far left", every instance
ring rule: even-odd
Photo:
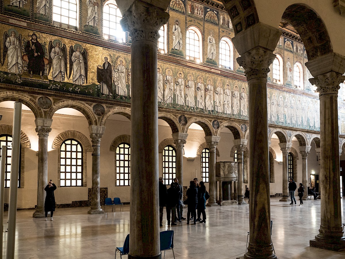
[[[12,133],[12,158],[10,178],[10,201],[8,208],[8,235],[7,235],[7,259],[14,258],[14,246],[16,244],[16,216],[17,216],[17,191],[19,173],[20,152],[20,128],[21,128],[20,102],[14,103],[13,133]]]

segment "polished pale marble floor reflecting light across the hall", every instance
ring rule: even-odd
[[[342,218],[344,218],[342,200]],[[109,210],[109,208],[107,208]],[[53,221],[32,218],[33,210],[17,212],[16,258],[115,258],[115,247],[123,245],[129,233],[129,205],[124,212],[87,214],[88,208],[57,209]],[[174,230],[175,258],[236,258],[246,250],[249,206],[206,208],[206,223],[167,227]],[[187,209],[184,212],[186,217]],[[164,217],[166,214],[164,214]],[[4,229],[7,228],[7,212]],[[345,258],[344,252],[309,247],[320,224],[320,200],[304,201],[303,206],[271,199],[272,240],[279,259]],[[3,235],[6,249],[7,233]],[[3,258],[6,258],[3,256]],[[126,256],[125,256],[126,258]],[[166,258],[173,258],[172,251]]]

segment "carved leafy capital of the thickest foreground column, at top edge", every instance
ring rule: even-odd
[[[150,40],[157,44],[159,29],[167,23],[169,14],[155,6],[135,1],[124,13],[120,23],[124,31],[129,31],[132,42]]]

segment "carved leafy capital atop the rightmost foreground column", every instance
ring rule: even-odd
[[[320,95],[338,94],[338,90],[340,89],[339,84],[344,82],[344,80],[345,76],[334,71],[309,79],[312,85],[316,85],[316,91],[319,92]]]

